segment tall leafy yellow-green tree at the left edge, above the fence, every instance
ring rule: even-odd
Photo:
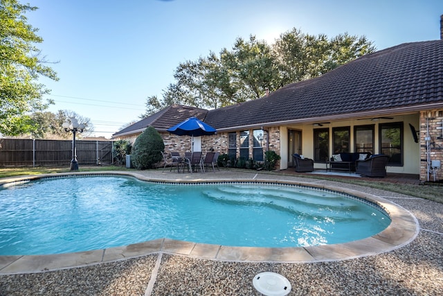
[[[0,132],[6,135],[33,130],[28,114],[53,103],[43,101],[49,90],[36,82],[39,76],[58,80],[35,46],[43,42],[38,29],[25,17],[36,9],[17,0],[0,0]]]

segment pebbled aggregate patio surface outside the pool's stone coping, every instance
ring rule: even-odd
[[[217,261],[160,252],[78,268],[1,275],[0,295],[260,295],[253,288],[252,279],[264,271],[287,277],[292,285],[289,295],[438,295],[443,292],[443,204],[354,184],[311,179],[290,170],[278,174],[227,170],[185,175],[169,171],[137,173],[152,180],[266,179],[338,186],[399,204],[417,218],[419,234],[414,241],[396,250],[341,261]],[[400,179],[388,175],[388,180],[398,182]]]

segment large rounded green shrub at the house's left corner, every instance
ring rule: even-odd
[[[139,170],[154,168],[154,164],[163,159],[161,156],[163,150],[165,150],[165,143],[161,135],[155,128],[149,126],[134,142],[131,155],[132,164]]]

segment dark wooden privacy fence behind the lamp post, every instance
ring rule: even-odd
[[[112,164],[112,141],[75,141],[78,164]],[[60,166],[72,159],[72,140],[0,139],[0,166]]]

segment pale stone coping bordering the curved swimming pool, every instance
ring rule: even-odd
[[[374,236],[370,236],[359,241],[312,247],[230,247],[225,245],[210,245],[187,241],[177,241],[169,238],[159,238],[153,241],[135,243],[122,247],[111,247],[102,250],[51,255],[0,256],[0,275],[46,272],[66,268],[76,268],[86,265],[119,261],[138,256],[145,256],[148,254],[160,253],[235,262],[313,263],[324,261],[341,261],[395,250],[413,241],[419,233],[419,223],[417,218],[394,202],[390,202],[389,200],[370,193],[312,182],[268,180],[264,178],[247,179],[235,177],[224,180],[202,180],[201,178],[195,178],[192,180],[165,180],[165,178],[162,177],[146,177],[145,175],[139,173],[113,171],[57,173],[51,175],[8,177],[0,180],[0,185],[72,175],[125,175],[136,177],[138,180],[167,183],[186,182],[190,184],[197,184],[248,182],[309,186],[354,195],[358,198],[374,202],[374,204],[377,204],[384,211],[386,211],[386,213],[388,213],[391,223],[379,234],[375,234]]]

